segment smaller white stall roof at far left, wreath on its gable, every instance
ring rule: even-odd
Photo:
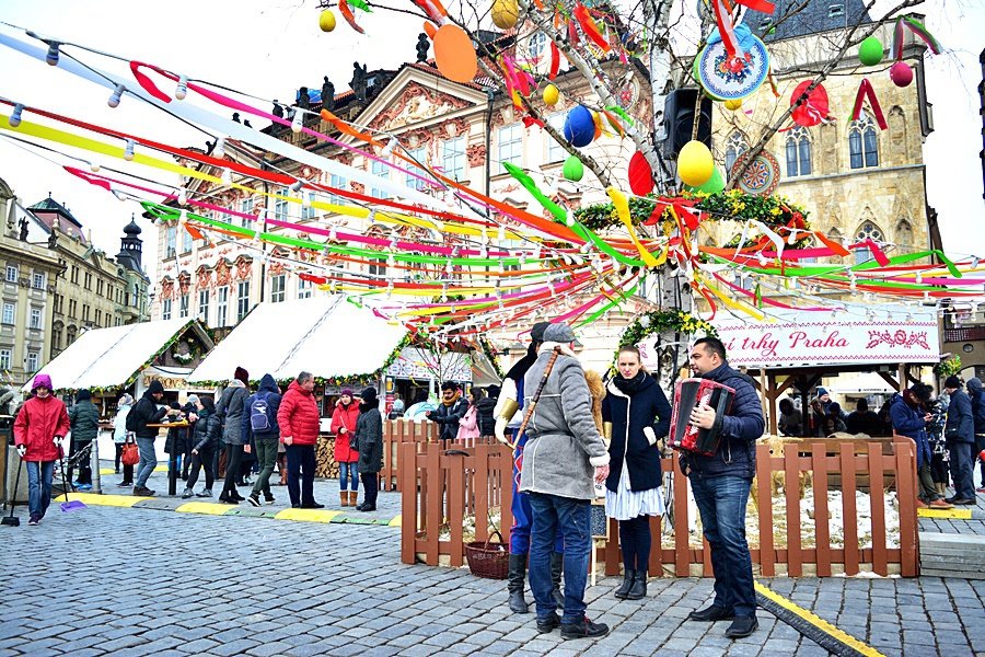
[[[126,388],[155,354],[184,334],[189,325],[211,347],[212,339],[202,325],[187,318],[93,328],[37,373],[51,377],[56,390]],[[33,381],[21,390],[28,392]]]

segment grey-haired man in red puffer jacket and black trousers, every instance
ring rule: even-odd
[[[321,417],[313,391],[314,376],[301,372],[283,393],[277,411],[280,441],[287,450],[288,495],[292,508],[325,508],[314,499],[314,449]]]

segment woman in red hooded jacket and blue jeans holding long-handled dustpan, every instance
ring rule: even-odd
[[[51,378],[37,374],[14,420],[18,456],[27,463],[27,525],[37,526],[51,503],[55,461],[62,454],[62,441],[70,430],[65,403],[51,394]]]

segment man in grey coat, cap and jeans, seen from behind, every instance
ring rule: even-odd
[[[584,587],[592,537],[592,480],[609,476],[609,451],[592,415],[592,393],[584,370],[571,350],[575,333],[567,324],[551,324],[537,358],[524,377],[524,406],[541,389],[536,413],[526,425],[520,491],[530,496],[530,588],[537,611],[537,631],[560,626],[561,638],[609,634],[604,623],[586,616]],[[554,365],[547,373],[548,362]],[[564,532],[565,603],[557,615],[551,555],[558,531]]]

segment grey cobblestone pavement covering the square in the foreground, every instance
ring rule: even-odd
[[[391,495],[394,499],[396,495]],[[23,514],[22,514],[23,515]],[[273,522],[91,506],[39,527],[0,528],[0,656],[127,655],[824,655],[760,611],[748,639],[684,622],[708,579],[651,579],[617,601],[588,591],[610,623],[598,642],[540,635],[506,609],[502,581],[399,563],[387,527]],[[985,654],[985,581],[763,580],[885,655]]]

